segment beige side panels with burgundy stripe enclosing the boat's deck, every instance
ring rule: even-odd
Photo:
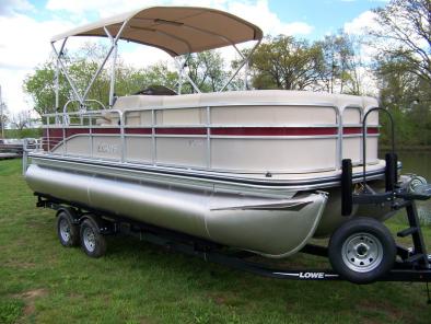
[[[361,163],[361,106],[235,103],[160,105],[133,96],[119,109],[47,115],[44,149],[54,154],[248,173],[338,170]],[[125,102],[140,107],[128,107]],[[149,104],[159,104],[148,106]],[[173,99],[166,99],[173,103]],[[195,103],[195,104],[194,104]],[[143,105],[143,106],[142,106]],[[377,115],[377,114],[374,114]],[[377,162],[378,116],[368,127],[368,163]],[[313,158],[314,157],[314,158]]]

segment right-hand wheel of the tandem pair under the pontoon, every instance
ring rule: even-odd
[[[91,219],[81,223],[81,247],[88,256],[101,257],[106,252],[106,240],[98,232],[97,224]]]

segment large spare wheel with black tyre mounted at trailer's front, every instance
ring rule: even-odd
[[[356,218],[337,229],[329,241],[329,262],[354,284],[370,284],[394,265],[396,245],[388,229],[372,218]]]

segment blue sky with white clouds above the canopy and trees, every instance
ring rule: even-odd
[[[10,114],[33,108],[23,80],[51,54],[49,39],[102,18],[151,5],[196,5],[228,11],[258,25],[264,35],[292,35],[310,40],[343,30],[363,33],[372,9],[387,0],[0,0],[0,86]],[[80,37],[81,38],[81,37]],[[80,42],[72,40],[71,46]],[[78,42],[78,43],[73,43]],[[82,43],[81,43],[82,44]],[[123,49],[123,50],[121,50]],[[168,56],[144,46],[124,46],[125,62],[144,67]],[[54,103],[53,103],[54,104]]]

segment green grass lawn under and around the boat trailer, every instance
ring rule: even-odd
[[[89,258],[59,244],[20,162],[0,161],[0,323],[430,323],[421,284],[261,278],[131,238],[109,238],[107,255]]]

